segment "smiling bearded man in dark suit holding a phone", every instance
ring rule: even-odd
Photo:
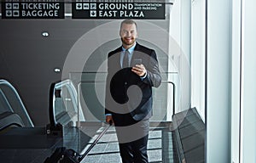
[[[152,87],[160,86],[159,65],[154,50],[136,41],[135,21],[123,20],[119,37],[122,46],[108,53],[106,121],[115,126],[123,163],[148,163]]]

